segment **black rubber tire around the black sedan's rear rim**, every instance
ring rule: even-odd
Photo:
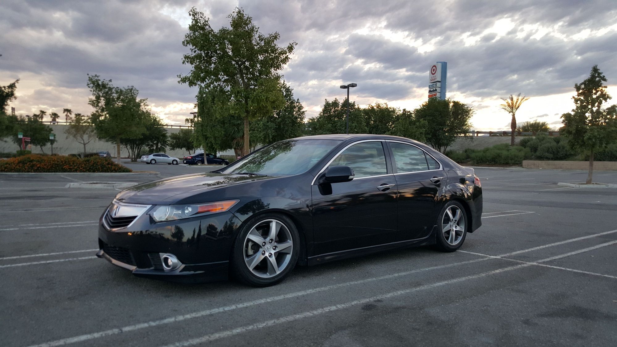
[[[450,211],[450,213],[448,213],[448,211]],[[457,216],[457,213],[452,213],[453,211],[460,211],[460,216],[451,219],[450,214],[453,214],[453,217]],[[461,220],[463,222],[462,225],[460,222]],[[446,223],[444,224],[444,222]],[[458,229],[452,229],[452,226]],[[439,217],[437,217],[435,248],[443,252],[458,250],[458,248],[463,245],[463,242],[465,242],[469,226],[469,218],[463,205],[455,201],[447,202],[439,212]],[[454,235],[452,235],[452,232],[454,232]],[[450,237],[452,238],[450,239]]]

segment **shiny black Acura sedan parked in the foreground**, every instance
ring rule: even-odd
[[[403,137],[306,136],[212,173],[140,184],[102,214],[99,258],[136,276],[273,285],[296,264],[455,251],[481,226],[471,168]]]

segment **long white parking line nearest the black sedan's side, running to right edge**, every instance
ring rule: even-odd
[[[550,247],[550,246],[555,246],[555,245],[563,245],[564,243],[575,242],[575,241],[583,240],[583,239],[589,239],[590,237],[607,235],[607,234],[611,234],[613,232],[617,232],[617,230],[607,231],[607,232],[600,232],[598,234],[587,235],[585,237],[577,237],[575,239],[563,240],[563,241],[560,241],[560,242],[550,243],[549,245],[543,245],[543,246],[539,246],[539,247],[528,248],[526,250],[520,250],[520,251],[516,251],[516,252],[513,252],[513,253],[506,253],[506,254],[500,255],[500,256],[508,256],[508,255],[513,255],[513,254],[519,254],[519,253],[524,253],[526,251],[533,251],[533,250],[537,250],[537,249],[540,249],[540,248],[545,248],[545,247]],[[325,292],[326,290],[330,290],[330,289],[334,289],[334,288],[342,288],[342,287],[347,287],[349,285],[364,284],[364,283],[373,282],[373,281],[377,281],[377,280],[384,280],[384,279],[391,279],[391,278],[394,278],[394,277],[407,276],[409,274],[415,274],[416,272],[421,272],[421,271],[429,271],[429,270],[434,270],[434,269],[443,269],[445,267],[450,267],[450,266],[458,266],[458,265],[462,265],[462,264],[476,263],[478,261],[484,261],[484,260],[493,259],[493,258],[494,258],[494,256],[487,256],[486,258],[471,259],[471,260],[468,260],[468,261],[461,261],[461,262],[458,262],[458,263],[445,264],[445,265],[439,265],[439,266],[433,266],[433,267],[426,267],[424,269],[416,269],[416,270],[412,270],[412,271],[399,272],[397,274],[390,274],[390,275],[381,276],[381,277],[373,277],[373,278],[370,278],[370,279],[363,279],[363,280],[357,280],[357,281],[352,281],[352,282],[345,282],[345,283],[342,283],[342,284],[329,285],[329,286],[321,287],[321,288],[313,288],[313,289],[309,289],[309,290],[302,290],[301,292],[289,293],[289,294],[284,294],[284,295],[279,295],[279,296],[271,296],[271,297],[268,297],[268,298],[258,299],[258,300],[254,300],[254,301],[247,301],[247,302],[244,302],[244,303],[233,304],[233,305],[230,305],[230,306],[223,306],[223,307],[220,307],[220,308],[213,308],[213,309],[207,309],[205,311],[199,311],[199,312],[193,312],[193,313],[189,313],[189,314],[183,314],[181,316],[169,317],[169,318],[166,318],[166,319],[154,320],[154,321],[151,321],[151,322],[145,322],[145,323],[141,323],[141,324],[128,325],[128,326],[122,327],[122,328],[104,330],[102,332],[89,333],[89,334],[79,335],[79,336],[70,337],[70,338],[63,338],[61,340],[49,341],[47,343],[42,343],[41,345],[35,345],[35,346],[30,346],[30,347],[51,347],[51,346],[70,345],[71,343],[77,343],[77,342],[82,342],[82,341],[93,340],[95,338],[101,338],[101,337],[106,337],[106,336],[110,336],[110,335],[116,335],[118,333],[130,332],[130,331],[135,331],[135,330],[144,329],[144,328],[148,328],[148,327],[155,327],[155,326],[158,326],[158,325],[170,324],[170,323],[173,323],[173,322],[180,322],[181,320],[187,320],[187,319],[199,318],[199,317],[203,317],[203,316],[209,316],[211,314],[216,314],[218,312],[231,311],[233,309],[238,309],[238,308],[246,308],[246,307],[249,307],[249,306],[255,306],[255,305],[258,305],[258,304],[262,304],[262,303],[270,303],[270,302],[273,302],[273,301],[278,301],[278,300],[283,300],[283,299],[288,299],[288,298],[294,298],[294,297],[297,297],[297,296],[308,295],[308,294],[311,294],[311,293]],[[536,262],[536,263],[538,263],[538,262]],[[525,264],[523,264],[523,265],[525,265]]]

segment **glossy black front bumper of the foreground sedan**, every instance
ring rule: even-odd
[[[106,212],[107,213],[107,212]],[[99,221],[99,258],[135,276],[173,282],[213,282],[228,278],[228,263],[240,221],[231,213],[154,223],[144,213],[128,227],[110,230]],[[165,271],[159,253],[182,263]]]

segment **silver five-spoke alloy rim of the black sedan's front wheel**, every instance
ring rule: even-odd
[[[281,273],[291,260],[293,240],[285,224],[264,219],[244,239],[244,263],[257,277],[269,279]]]

